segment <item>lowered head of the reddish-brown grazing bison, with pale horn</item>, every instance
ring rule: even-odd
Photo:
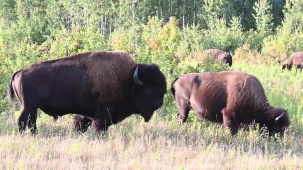
[[[275,108],[267,113],[267,123],[265,126],[268,128],[269,134],[274,135],[280,133],[282,136],[286,128],[290,125],[288,112],[285,109]]]

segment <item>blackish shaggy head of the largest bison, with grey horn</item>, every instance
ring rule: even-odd
[[[148,122],[153,112],[163,105],[166,80],[157,65],[138,64],[133,76],[135,109]]]

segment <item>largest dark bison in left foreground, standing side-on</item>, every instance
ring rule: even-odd
[[[148,122],[163,104],[166,81],[158,66],[137,64],[126,52],[90,51],[33,64],[12,75],[8,99],[22,105],[19,131],[36,133],[40,108],[56,118],[68,113],[74,128],[106,130],[133,113]]]

